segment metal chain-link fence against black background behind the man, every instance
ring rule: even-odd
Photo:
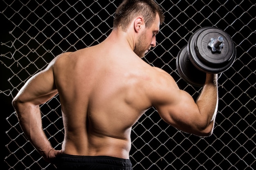
[[[234,64],[219,77],[219,108],[210,137],[190,135],[166,124],[150,108],[132,128],[134,170],[256,169],[256,6],[254,0],[156,0],[165,22],[157,46],[143,60],[170,73],[194,99],[201,88],[187,84],[175,60],[190,36],[216,26],[236,46]],[[14,97],[24,83],[58,54],[104,40],[121,0],[1,0],[1,96]],[[7,30],[8,29],[8,30]],[[58,95],[40,106],[52,146],[61,148],[63,124]],[[8,170],[50,170],[23,134],[13,110],[2,109]]]

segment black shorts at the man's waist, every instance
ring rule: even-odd
[[[63,154],[56,158],[58,170],[132,170],[130,159],[108,156],[76,156]]]

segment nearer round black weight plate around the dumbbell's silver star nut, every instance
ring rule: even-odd
[[[208,46],[211,38],[222,36],[224,46],[221,52],[212,52]],[[188,43],[191,62],[205,73],[221,73],[227,70],[234,62],[236,48],[230,36],[221,29],[203,27],[196,31]]]

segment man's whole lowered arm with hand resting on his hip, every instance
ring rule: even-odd
[[[40,104],[47,102],[58,93],[54,85],[51,65],[52,63],[45,70],[31,77],[13,99],[13,107],[22,130],[31,144],[48,162],[61,153],[52,148],[45,136],[39,109]]]

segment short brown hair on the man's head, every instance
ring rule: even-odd
[[[113,28],[118,26],[126,31],[132,20],[142,15],[146,24],[146,28],[151,26],[158,13],[160,24],[164,22],[164,13],[154,0],[124,0],[116,10]]]

